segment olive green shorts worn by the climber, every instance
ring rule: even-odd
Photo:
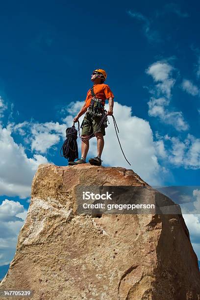
[[[99,127],[101,119],[102,119],[101,117],[94,117],[86,113],[82,123],[81,135],[90,135],[94,131],[96,131],[97,128]],[[100,126],[98,132],[101,132],[103,135],[105,135],[104,125]]]

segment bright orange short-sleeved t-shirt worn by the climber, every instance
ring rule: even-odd
[[[94,84],[93,89],[94,89],[94,93],[95,93],[96,98],[102,100],[103,106],[105,105],[105,100],[106,99],[108,99],[109,97],[114,98],[114,95],[111,92],[110,87],[107,84],[104,84],[104,83]],[[91,90],[89,89],[89,91],[87,92],[86,100],[85,100],[87,107],[90,106],[90,102],[91,102],[92,97],[93,96],[91,94]]]

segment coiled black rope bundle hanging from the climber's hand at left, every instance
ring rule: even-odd
[[[75,161],[78,158],[78,145],[77,145],[77,130],[75,123],[72,127],[66,129],[66,140],[60,150],[60,155],[67,158],[68,161]],[[63,152],[63,155],[61,154]]]

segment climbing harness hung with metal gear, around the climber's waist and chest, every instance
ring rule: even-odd
[[[108,126],[107,123],[109,124],[107,114],[106,114],[107,111],[104,109],[104,106],[102,104],[102,100],[96,98],[93,87],[90,89],[90,91],[91,91],[91,94],[92,94],[92,99],[91,99],[91,102],[90,102],[90,106],[88,107],[87,114],[91,118],[93,118],[93,117],[102,117],[103,118],[104,116],[106,116],[106,118],[103,119],[103,123],[102,123],[102,125],[106,128]],[[86,123],[87,123],[87,121],[83,120],[80,128],[82,128],[83,125],[86,124]]]

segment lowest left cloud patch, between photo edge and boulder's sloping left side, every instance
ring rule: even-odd
[[[19,202],[4,200],[0,205],[0,266],[9,264],[13,259],[26,215],[27,211]]]

